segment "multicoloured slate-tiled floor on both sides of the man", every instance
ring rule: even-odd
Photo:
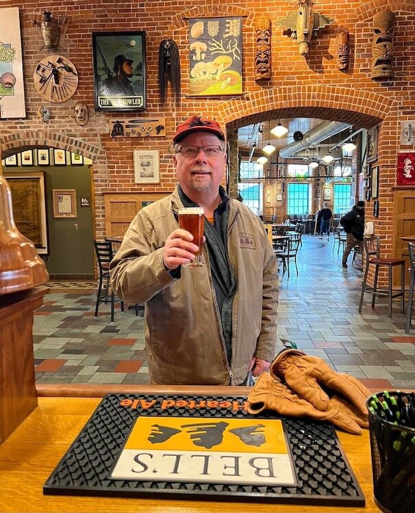
[[[405,335],[405,315],[395,300],[392,319],[384,300],[372,310],[360,298],[362,268],[341,265],[334,241],[305,235],[290,278],[280,282],[277,351],[288,339],[308,354],[368,386],[415,388],[415,326]],[[34,348],[38,383],[140,384],[148,382],[143,318],[110,306],[95,319],[95,282],[51,282],[45,305],[35,313]]]

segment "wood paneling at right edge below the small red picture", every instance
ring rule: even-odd
[[[407,241],[400,237],[415,235],[415,188],[396,187],[393,194],[394,219],[394,255],[397,259],[405,259],[405,269],[410,267]],[[405,284],[410,282],[409,272],[405,276]],[[394,274],[394,286],[399,287],[399,273]]]

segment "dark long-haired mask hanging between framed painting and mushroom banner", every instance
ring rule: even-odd
[[[168,82],[171,83],[176,101],[180,98],[180,59],[177,44],[164,39],[158,51],[158,89],[162,103],[166,101]]]

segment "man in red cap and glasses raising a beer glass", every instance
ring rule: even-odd
[[[112,287],[145,302],[149,376],[158,384],[243,384],[275,354],[278,278],[264,226],[227,196],[225,135],[216,121],[178,125],[179,185],[141,209],[110,265]],[[205,267],[181,267],[198,248],[177,222],[182,207],[205,212]]]

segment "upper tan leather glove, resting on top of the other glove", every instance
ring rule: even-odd
[[[333,371],[322,358],[289,349],[281,352],[270,367],[271,376],[284,380],[295,392],[322,412],[333,395],[340,395],[367,417],[366,399],[370,391],[359,380]]]

